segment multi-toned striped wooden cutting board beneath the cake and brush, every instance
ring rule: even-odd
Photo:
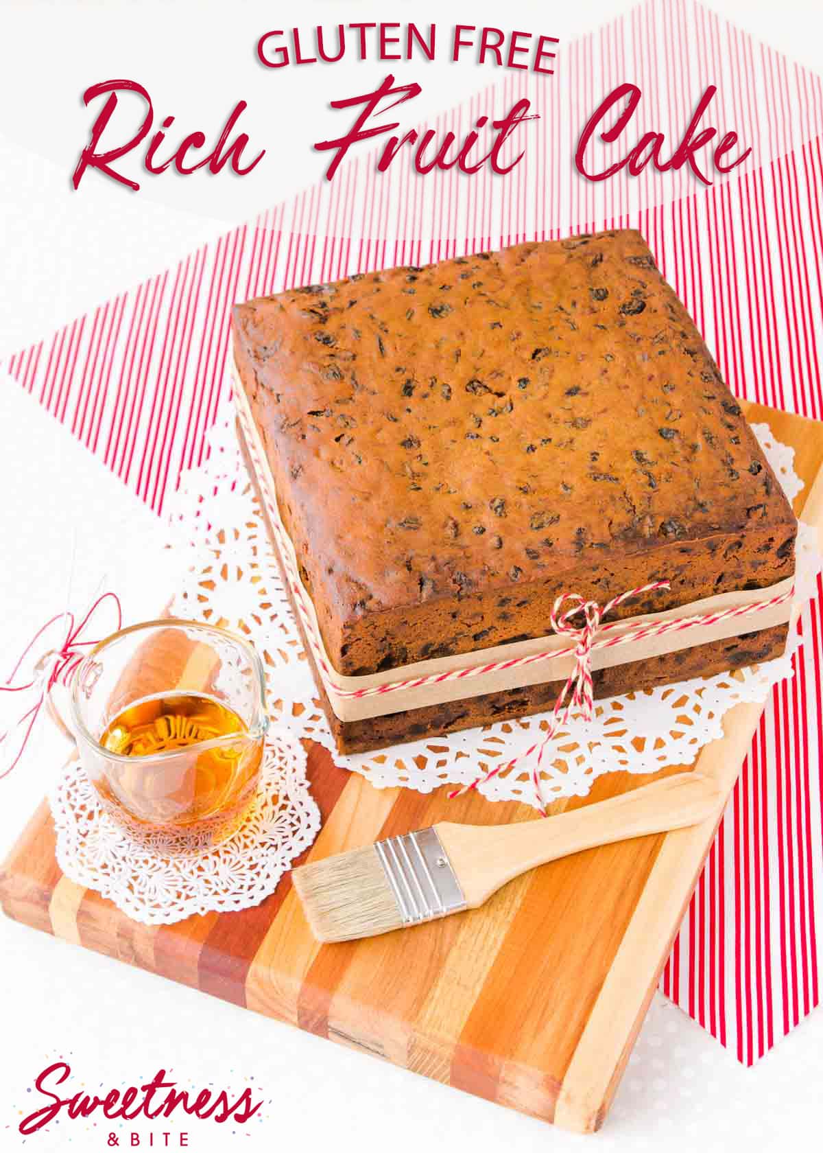
[[[796,451],[806,482],[795,512],[823,527],[823,424],[746,406]],[[761,708],[740,704],[697,768],[727,796]],[[533,820],[518,804],[477,794],[450,801],[376,790],[307,743],[323,829],[304,859],[439,820]],[[670,768],[665,773],[681,771]],[[665,774],[658,774],[663,776]],[[649,777],[616,773],[576,808]],[[506,886],[483,909],[370,941],[320,948],[290,876],[239,913],[146,928],[62,876],[41,804],[0,872],[0,903],[16,920],[289,1022],[490,1101],[590,1132],[617,1090],[677,934],[716,821],[590,850]]]

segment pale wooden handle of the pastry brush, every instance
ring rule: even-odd
[[[678,773],[641,789],[568,813],[515,824],[436,826],[469,909],[537,865],[595,845],[667,832],[717,820],[723,796],[713,781]]]

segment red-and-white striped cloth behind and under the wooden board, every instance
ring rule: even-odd
[[[631,129],[673,149],[707,84],[705,122],[753,156],[705,188],[688,168],[599,184],[573,169],[576,134],[617,84],[643,99]],[[507,178],[425,178],[345,163],[309,188],[129,288],[3,366],[158,514],[228,395],[236,300],[527,239],[639,227],[740,395],[821,417],[823,84],[694,0],[649,0],[568,46],[557,74],[511,73],[432,123],[460,138],[528,96],[526,157]],[[614,157],[612,156],[612,159]],[[823,925],[821,602],[802,655],[761,721],[662,987],[749,1064],[816,1005]]]

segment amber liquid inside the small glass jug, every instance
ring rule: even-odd
[[[204,747],[218,737],[236,741]],[[164,693],[129,704],[106,726],[100,745],[120,756],[108,782],[96,782],[104,804],[134,834],[227,836],[255,792],[263,740],[221,701],[197,693]],[[190,753],[186,753],[190,749]],[[163,754],[181,754],[164,756]]]

